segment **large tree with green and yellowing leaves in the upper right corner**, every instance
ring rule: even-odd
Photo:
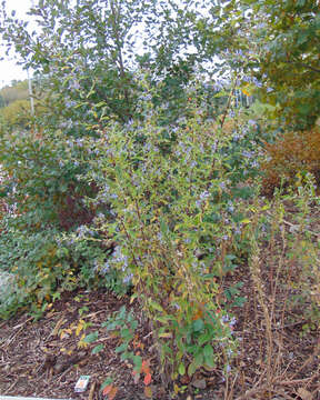
[[[320,113],[319,1],[242,0],[239,11],[233,23],[242,30],[240,48],[252,60],[246,67],[260,83],[260,99],[276,106],[287,126],[313,126]]]

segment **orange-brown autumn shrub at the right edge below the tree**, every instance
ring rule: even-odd
[[[311,172],[320,183],[320,128],[302,132],[286,132],[274,143],[266,143],[267,160],[261,164],[266,176],[264,194],[271,196],[276,188],[294,183],[297,173]],[[283,183],[284,180],[284,183]]]

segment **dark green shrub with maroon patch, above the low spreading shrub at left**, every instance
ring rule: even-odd
[[[81,141],[66,144],[61,131],[40,137],[27,131],[0,139],[0,162],[7,172],[2,184],[7,201],[17,204],[19,218],[12,222],[23,229],[44,229],[49,223],[69,230],[93,219],[82,198],[94,196],[94,188],[77,180],[86,169]]]

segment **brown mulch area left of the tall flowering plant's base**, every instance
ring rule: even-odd
[[[156,371],[157,359],[151,348],[152,338],[148,324],[137,303],[130,304],[129,300],[128,297],[118,299],[102,291],[79,290],[63,293],[38,321],[24,313],[0,323],[0,394],[102,399],[101,384],[108,377],[112,377],[118,387],[116,399],[146,399],[142,380],[136,384],[132,366],[128,361],[121,361],[114,352],[119,340],[101,328],[108,316],[122,306],[127,306],[128,310],[133,309],[140,322],[137,331],[139,351],[143,359],[151,361],[152,370]],[[79,346],[83,333],[77,332],[80,320],[88,324],[86,334],[97,330],[100,332],[99,343],[103,343],[104,349],[98,354],[91,354],[97,342],[84,348]],[[90,384],[83,393],[74,392],[80,376],[90,376]],[[160,381],[157,381],[157,373],[151,388],[153,399],[170,398],[161,388]],[[188,393],[181,398],[187,396]],[[201,400],[207,397],[197,393],[196,398]]]

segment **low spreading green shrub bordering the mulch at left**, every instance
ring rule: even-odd
[[[0,301],[1,318],[9,318],[23,307],[40,316],[63,290],[78,287],[103,287],[122,293],[128,290],[113,270],[99,274],[98,266],[109,257],[99,240],[89,233],[78,241],[73,237],[52,228],[28,232],[2,223],[0,271],[10,273],[14,287],[8,286]]]

